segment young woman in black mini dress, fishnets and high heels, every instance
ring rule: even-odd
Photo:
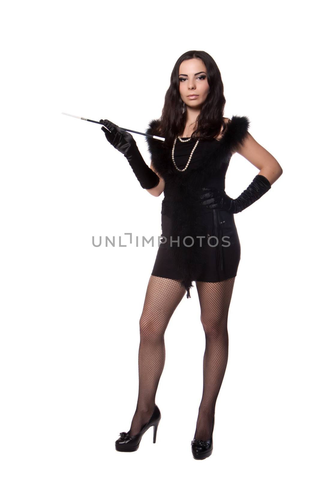
[[[216,399],[228,358],[227,318],[240,242],[234,214],[266,193],[282,174],[277,160],[248,132],[247,117],[223,117],[225,97],[219,69],[204,51],[191,50],[177,60],[162,116],[146,133],[151,168],[129,132],[100,120],[108,142],[128,159],[142,188],[164,192],[162,236],[140,318],[139,395],[130,431],[121,432],[116,449],[138,449],[144,432],[154,427],[160,410],[155,394],[165,364],[164,334],[192,281],[205,333],[203,391],[191,451],[196,459],[212,453]],[[234,153],[259,169],[236,199],[225,193],[225,173]]]

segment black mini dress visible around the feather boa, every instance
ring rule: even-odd
[[[187,140],[187,137],[182,138]],[[191,138],[189,142],[180,142],[177,139],[174,151],[174,158],[178,168],[184,168],[189,160],[190,153],[196,143],[197,139]],[[201,169],[202,154],[212,149],[219,147],[220,141],[213,139],[209,141],[199,141],[195,151],[193,152],[188,170]],[[212,178],[206,180],[206,187],[215,187],[217,189],[225,190],[225,174],[228,168],[228,163],[223,164],[221,168],[216,171]],[[179,172],[177,173],[179,175]],[[190,174],[190,173],[189,173]],[[191,173],[192,175],[192,173]],[[201,225],[204,226],[206,238],[199,240],[202,252],[204,254],[204,262],[201,266],[201,271],[192,280],[201,282],[221,282],[228,278],[237,275],[237,269],[240,262],[240,241],[237,234],[237,228],[234,220],[234,215],[222,209],[209,209],[201,204],[200,195],[204,191],[199,189],[194,192],[195,203],[198,208],[198,218],[201,219]],[[160,244],[152,275],[163,278],[171,278],[173,280],[181,280],[181,275],[178,269],[178,261],[173,254],[174,238],[170,235],[172,232],[172,219],[167,215],[166,208],[174,209],[175,198],[170,196],[170,192],[166,194],[166,187],[164,190],[164,199],[162,201],[161,210],[161,237],[163,237]],[[199,200],[197,200],[199,199]],[[198,202],[198,203],[197,203]],[[186,244],[192,242],[191,239],[185,240]]]

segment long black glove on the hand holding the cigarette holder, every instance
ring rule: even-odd
[[[127,158],[142,188],[149,190],[156,187],[160,179],[143,160],[131,133],[118,127],[118,125],[115,125],[115,123],[112,123],[110,120],[100,120],[100,123],[104,125],[101,127],[101,130],[105,133],[107,141]]]

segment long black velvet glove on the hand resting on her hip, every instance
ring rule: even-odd
[[[256,202],[256,200],[259,200],[270,189],[271,184],[269,180],[258,174],[254,177],[249,187],[235,199],[229,197],[224,190],[202,188],[202,190],[207,190],[207,193],[200,196],[201,204],[207,208],[217,208],[230,213],[239,213]]]

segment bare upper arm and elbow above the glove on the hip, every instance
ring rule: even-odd
[[[246,135],[243,145],[238,144],[237,149],[233,153],[235,152],[259,168],[259,174],[268,179],[271,185],[278,180],[283,173],[281,166],[274,156],[258,144],[249,132]]]

